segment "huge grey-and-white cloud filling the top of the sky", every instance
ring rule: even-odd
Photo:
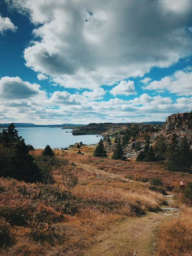
[[[27,67],[66,88],[112,85],[192,54],[190,0],[6,2],[36,26]]]

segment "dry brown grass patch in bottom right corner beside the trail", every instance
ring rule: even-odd
[[[167,221],[157,237],[157,256],[191,256],[192,209],[185,208],[178,218]]]

